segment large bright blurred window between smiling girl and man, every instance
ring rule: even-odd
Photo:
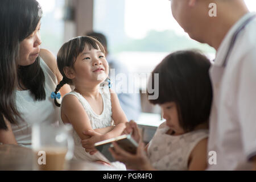
[[[151,72],[170,52],[198,48],[210,59],[215,51],[189,38],[171,13],[170,1],[94,0],[94,31],[131,72]]]

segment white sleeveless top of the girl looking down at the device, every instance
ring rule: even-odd
[[[173,136],[166,134],[169,129],[166,122],[163,122],[148,144],[147,156],[150,163],[158,170],[188,170],[189,156],[196,144],[208,137],[208,130]]]

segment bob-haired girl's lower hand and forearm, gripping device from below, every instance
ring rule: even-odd
[[[146,152],[144,151],[144,144],[143,142],[139,143],[137,148],[137,154],[130,154],[126,152],[121,147],[118,146],[116,142],[113,142],[114,149],[109,148],[113,158],[122,162],[126,165],[127,169],[133,170],[154,170],[152,168],[149,159],[147,158]]]

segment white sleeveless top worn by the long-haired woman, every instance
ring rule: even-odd
[[[31,147],[31,127],[36,122],[47,122],[53,125],[58,124],[59,107],[54,104],[51,93],[56,89],[57,78],[51,69],[40,59],[40,67],[45,77],[44,90],[46,91],[46,100],[36,101],[29,90],[16,90],[16,107],[24,119],[17,119],[18,125],[12,124],[16,141],[20,146]]]

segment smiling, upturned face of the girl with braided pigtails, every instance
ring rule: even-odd
[[[77,56],[74,64],[76,84],[100,84],[109,75],[109,64],[100,49],[89,49]]]

